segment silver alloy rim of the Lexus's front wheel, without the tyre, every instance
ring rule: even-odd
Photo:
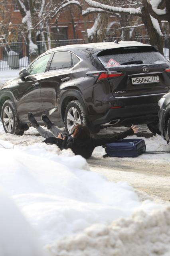
[[[14,117],[10,107],[6,106],[3,112],[3,121],[6,131],[10,133],[14,127]]]

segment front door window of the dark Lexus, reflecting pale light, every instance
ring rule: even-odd
[[[42,57],[34,61],[32,65],[30,65],[30,67],[27,69],[27,74],[34,75],[37,73],[45,72],[50,55],[51,53],[43,55]]]

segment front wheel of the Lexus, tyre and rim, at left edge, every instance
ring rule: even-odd
[[[11,100],[7,100],[4,102],[2,106],[1,117],[2,125],[6,133],[16,135],[24,134],[24,130],[19,129],[19,121],[16,114],[16,109],[14,107],[14,103]]]

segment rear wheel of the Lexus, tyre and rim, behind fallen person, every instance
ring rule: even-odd
[[[87,125],[87,117],[79,101],[69,102],[65,109],[64,123],[67,134],[73,133],[77,124]]]

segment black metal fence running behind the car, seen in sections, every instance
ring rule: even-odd
[[[124,40],[125,38],[110,37],[105,38],[104,42],[113,42],[114,40]],[[134,40],[149,44],[148,36],[136,36]],[[69,40],[49,40],[38,41],[38,54],[42,54],[46,50],[54,47],[69,44],[84,44],[84,39]],[[169,36],[164,35],[164,56],[169,59]],[[30,64],[29,50],[26,42],[0,43],[0,71],[22,69]]]

